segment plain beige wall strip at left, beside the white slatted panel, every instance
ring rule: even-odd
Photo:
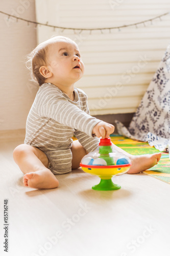
[[[1,0],[0,10],[35,20],[33,0]],[[0,130],[25,129],[37,88],[29,82],[23,56],[36,46],[34,26],[0,14]]]

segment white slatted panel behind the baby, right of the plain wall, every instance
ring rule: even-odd
[[[72,28],[105,28],[141,22],[167,12],[169,0],[36,0],[37,21]],[[86,71],[76,83],[90,113],[133,113],[170,42],[170,15],[138,28],[92,32],[38,27],[39,42],[52,35],[74,39]],[[143,60],[144,59],[144,60]],[[117,87],[121,84],[121,87]]]

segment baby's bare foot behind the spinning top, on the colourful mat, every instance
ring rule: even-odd
[[[128,170],[128,174],[138,174],[143,170],[147,170],[157,164],[161,158],[161,153],[147,154],[141,156],[132,156],[132,166]]]

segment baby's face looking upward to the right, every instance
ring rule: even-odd
[[[61,40],[51,45],[47,54],[48,68],[56,83],[71,84],[84,74],[84,63],[78,46],[74,42]]]

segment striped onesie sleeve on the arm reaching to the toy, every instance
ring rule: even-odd
[[[89,136],[92,136],[93,127],[101,121],[84,112],[74,101],[70,102],[58,88],[47,87],[43,90],[43,95],[37,99],[37,112],[40,116],[52,118]]]

